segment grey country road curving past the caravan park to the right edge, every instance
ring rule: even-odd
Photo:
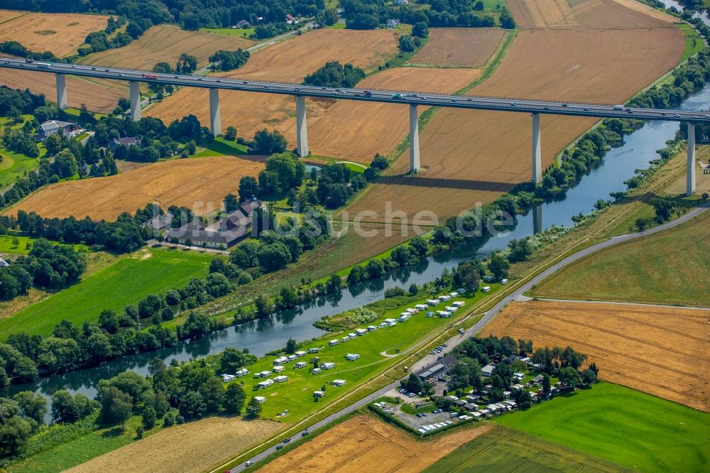
[[[645,237],[648,235],[655,234],[657,232],[662,232],[665,229],[669,229],[672,227],[676,227],[679,224],[683,224],[684,222],[687,222],[689,219],[692,219],[693,217],[697,217],[697,215],[701,214],[701,212],[704,212],[710,207],[710,201],[705,202],[703,205],[700,207],[695,208],[694,210],[688,212],[687,214],[684,214],[682,217],[672,220],[671,222],[666,222],[665,224],[659,225],[658,227],[654,227],[652,229],[644,230],[643,232],[638,232],[638,233],[630,233],[626,235],[620,235],[618,237],[612,237],[611,239],[608,239],[606,241],[602,241],[599,244],[596,244],[594,246],[589,246],[589,248],[585,248],[571,256],[567,256],[567,258],[563,259],[562,261],[559,261],[558,263],[555,263],[554,265],[550,266],[550,268],[545,269],[545,271],[542,271],[542,273],[538,274],[534,278],[530,279],[527,283],[523,284],[523,286],[520,286],[520,288],[516,289],[513,293],[510,293],[509,295],[506,295],[505,298],[501,299],[499,303],[493,306],[491,310],[488,310],[486,312],[486,315],[481,318],[476,324],[474,324],[473,327],[471,327],[469,330],[466,331],[463,337],[454,337],[451,341],[448,343],[448,347],[444,349],[444,354],[447,352],[451,352],[454,347],[456,347],[458,344],[461,342],[464,342],[464,340],[473,337],[476,335],[476,333],[480,332],[483,330],[486,325],[488,325],[488,322],[491,322],[496,315],[498,315],[498,312],[501,312],[508,303],[512,302],[513,300],[517,299],[520,297],[520,295],[523,295],[526,291],[530,290],[532,286],[535,286],[535,284],[540,283],[543,279],[547,278],[550,276],[552,273],[555,273],[555,271],[558,271],[561,268],[564,268],[564,266],[568,266],[569,264],[574,263],[575,261],[584,258],[585,256],[589,256],[590,254],[595,253],[596,251],[600,251],[602,249],[609,248],[611,246],[615,246],[618,244],[621,244],[625,241],[630,241],[639,237]],[[425,364],[431,362],[432,359],[431,357],[426,357],[425,359],[420,360],[412,366],[412,369],[410,371],[415,371],[416,369],[419,369],[421,366],[425,366]],[[401,380],[400,380],[401,381]],[[376,398],[382,397],[385,393],[388,391],[391,391],[392,389],[397,388],[400,385],[400,381],[395,381],[392,384],[388,384],[388,386],[385,386],[384,388],[381,388],[379,391],[376,391],[375,393],[370,394],[369,396],[366,396],[362,398],[360,401],[356,401],[355,403],[352,403],[350,406],[342,409],[342,411],[338,411],[337,413],[334,413],[332,415],[329,415],[327,418],[324,418],[323,420],[320,420],[319,422],[310,425],[309,428],[306,430],[303,430],[302,432],[305,431],[311,431],[311,430],[317,430],[324,425],[327,425],[329,423],[332,423],[334,420],[337,420],[338,418],[343,417],[344,415],[347,415],[353,411],[357,411],[359,408],[366,406],[368,403],[371,403],[374,401]],[[299,440],[301,438],[301,433],[297,433],[296,435],[293,436],[293,441]],[[284,445],[283,443],[280,443],[278,445]],[[266,457],[269,455],[273,454],[276,452],[276,446],[274,445],[273,447],[269,448],[268,450],[265,450],[258,455],[255,455],[249,459],[250,462],[256,463],[260,462],[261,460],[264,460]],[[239,464],[238,467],[235,467],[234,469],[228,470],[231,472],[241,472],[242,470],[246,469],[246,463],[241,463]]]

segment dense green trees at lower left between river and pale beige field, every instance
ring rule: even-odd
[[[0,344],[2,356],[12,350],[10,345]],[[218,371],[229,372],[256,362],[256,357],[248,350],[238,352],[233,348],[209,359],[211,365],[221,367]],[[154,358],[149,362],[148,371],[149,376],[125,371],[102,379],[97,385],[95,400],[81,393],[72,395],[65,389],[55,391],[51,410],[55,427],[65,425],[64,435],[75,435],[75,431],[84,429],[123,427],[132,415],[141,415],[141,425],[137,428],[140,433],[155,427],[161,420],[164,427],[170,427],[204,415],[239,415],[244,411],[246,393],[241,385],[233,383],[225,388],[204,359],[166,366],[160,358]],[[31,391],[0,398],[0,457],[17,460],[35,448],[29,444],[35,438],[39,442],[46,441],[33,435],[45,425],[47,413],[47,398]]]

